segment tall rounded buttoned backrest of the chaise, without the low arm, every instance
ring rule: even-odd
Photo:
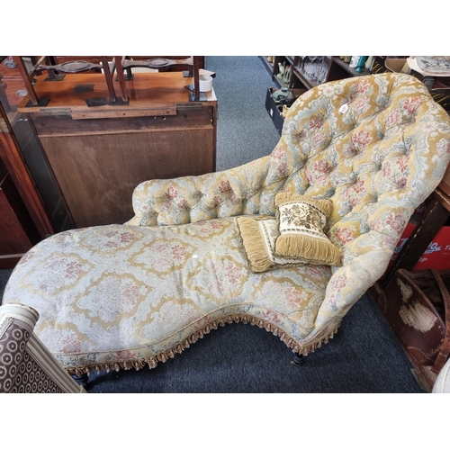
[[[450,118],[413,76],[359,76],[302,95],[274,153],[293,167],[283,190],[333,201],[339,247],[369,231],[393,247],[444,175]]]

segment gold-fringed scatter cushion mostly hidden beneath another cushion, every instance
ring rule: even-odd
[[[308,263],[302,258],[275,257],[275,240],[278,237],[276,219],[238,217],[237,222],[248,265],[253,273]]]

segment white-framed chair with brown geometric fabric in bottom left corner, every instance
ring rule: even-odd
[[[28,306],[0,306],[0,392],[85,392],[34,335],[38,318]]]

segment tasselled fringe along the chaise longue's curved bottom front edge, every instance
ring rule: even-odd
[[[250,325],[254,325],[259,327],[260,329],[266,329],[266,331],[271,332],[274,336],[280,338],[284,344],[291,348],[294,353],[298,353],[302,356],[307,356],[310,353],[314,353],[317,348],[322,347],[322,344],[328,344],[329,339],[332,339],[334,335],[338,332],[338,328],[340,323],[324,338],[319,338],[319,340],[307,345],[302,346],[298,344],[293,338],[284,333],[282,329],[277,328],[274,324],[267,322],[266,320],[257,319],[252,316],[246,316],[244,314],[231,314],[225,319],[220,319],[219,321],[212,321],[210,324],[206,325],[203,329],[200,329],[193,333],[189,338],[185,339],[183,343],[178,344],[177,346],[167,350],[166,352],[160,353],[157,356],[152,356],[150,358],[142,358],[137,360],[129,360],[129,361],[114,361],[110,364],[101,364],[101,365],[81,365],[75,367],[67,367],[66,372],[71,375],[81,376],[83,374],[93,374],[94,372],[111,372],[115,370],[119,372],[121,369],[130,370],[140,370],[145,365],[148,365],[149,369],[154,369],[157,367],[158,363],[166,363],[166,361],[170,358],[174,358],[176,354],[181,354],[185,348],[189,348],[191,344],[197,342],[198,339],[203,338],[204,335],[207,335],[211,332],[211,329],[218,329],[219,327],[224,327],[227,323],[249,323]]]

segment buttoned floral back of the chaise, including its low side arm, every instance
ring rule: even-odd
[[[449,124],[413,76],[385,73],[319,85],[293,103],[269,156],[213,174],[141,183],[133,193],[136,215],[127,224],[274,215],[275,194],[284,190],[334,202],[328,234],[339,247],[374,231],[393,249],[411,213],[444,175]]]

